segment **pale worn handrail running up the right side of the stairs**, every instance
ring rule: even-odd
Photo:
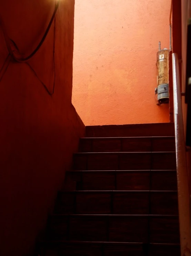
[[[178,204],[181,256],[191,255],[190,196],[182,115],[178,54],[172,54],[174,126],[177,159]]]

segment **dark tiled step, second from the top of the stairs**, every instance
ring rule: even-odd
[[[82,138],[80,152],[171,152],[174,137]]]

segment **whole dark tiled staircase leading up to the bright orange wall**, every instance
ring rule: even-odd
[[[173,124],[87,126],[42,256],[180,256]]]

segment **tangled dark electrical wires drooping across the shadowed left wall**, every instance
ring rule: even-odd
[[[35,50],[29,55],[27,56],[26,58],[17,58],[14,54],[15,51],[12,50],[11,48],[11,44],[10,44],[10,41],[12,42],[12,44],[14,45],[14,47],[17,49],[17,54],[19,53],[19,49],[16,45],[16,43],[14,43],[14,41],[12,39],[10,39],[7,35],[7,32],[6,32],[6,29],[5,29],[5,26],[3,24],[3,21],[0,19],[0,25],[1,25],[1,28],[2,28],[2,31],[3,31],[3,35],[4,35],[4,38],[5,38],[5,41],[6,41],[6,45],[7,45],[7,49],[9,51],[9,54],[6,58],[6,60],[4,61],[3,65],[2,65],[2,68],[0,69],[0,81],[2,80],[4,74],[6,73],[8,67],[9,67],[9,64],[12,61],[14,62],[17,62],[17,63],[26,63],[30,69],[33,71],[33,73],[35,74],[35,76],[39,79],[39,81],[42,83],[43,87],[46,89],[46,91],[48,92],[49,95],[53,95],[54,93],[54,86],[55,86],[55,80],[56,80],[56,72],[55,72],[55,37],[56,37],[56,13],[57,13],[57,10],[58,10],[58,7],[59,7],[59,3],[60,3],[60,0],[56,1],[55,3],[55,8],[54,8],[54,12],[53,12],[53,15],[50,19],[50,22],[48,24],[48,27],[40,41],[40,43],[37,45],[37,47],[35,48]],[[47,86],[40,80],[40,78],[38,77],[36,71],[31,67],[31,65],[27,62],[28,60],[30,60],[37,52],[38,50],[40,49],[40,47],[42,46],[44,40],[46,39],[48,33],[49,33],[49,30],[51,28],[51,25],[52,25],[52,22],[54,20],[54,35],[53,35],[53,68],[54,68],[54,82],[53,82],[53,89],[52,89],[52,92],[50,92],[47,88]]]

